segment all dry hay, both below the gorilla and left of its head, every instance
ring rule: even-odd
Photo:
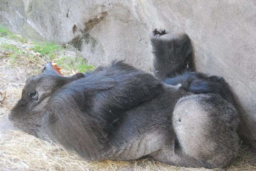
[[[0,121],[20,98],[26,77],[37,74],[43,63],[43,59],[42,64],[35,64],[23,58],[10,67],[8,59],[0,58],[0,98],[6,91],[0,105]],[[43,141],[19,130],[0,133],[0,170],[256,170],[256,155],[247,146],[241,146],[237,156],[237,161],[224,169],[175,167],[151,158],[125,162],[86,161],[58,143]]]

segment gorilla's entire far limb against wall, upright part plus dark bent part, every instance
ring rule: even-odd
[[[207,76],[195,70],[193,51],[188,35],[153,30],[154,75],[165,84],[181,84],[181,89],[193,94],[214,93],[235,104],[229,85],[222,77]]]

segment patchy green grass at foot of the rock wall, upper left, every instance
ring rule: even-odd
[[[45,61],[56,60],[58,66],[63,67],[68,71],[86,72],[94,70],[95,67],[88,65],[86,60],[82,57],[66,56],[60,58],[59,55],[64,51],[69,50],[63,45],[57,45],[49,42],[28,42],[22,36],[12,34],[7,28],[0,26],[0,38],[4,37],[6,40],[17,42],[17,45],[13,43],[1,43],[0,44],[0,58],[6,58],[9,60],[10,67],[17,61],[33,61],[43,66]],[[26,44],[27,45],[26,45]],[[24,46],[26,48],[24,48]],[[29,47],[29,48],[28,48]]]

